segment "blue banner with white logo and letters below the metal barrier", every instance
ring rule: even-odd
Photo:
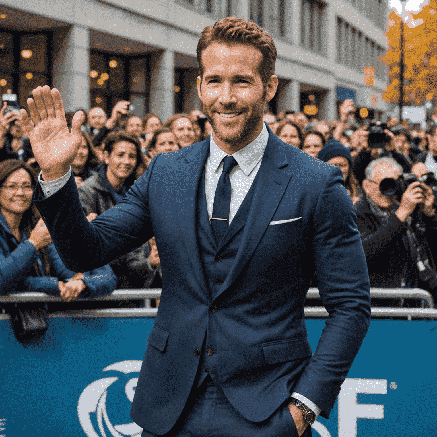
[[[140,437],[129,417],[152,318],[53,318],[18,343],[0,320],[0,437]],[[307,319],[313,351],[324,320]],[[372,320],[315,437],[437,434],[437,322]]]

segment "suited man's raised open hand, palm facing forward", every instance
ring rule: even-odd
[[[34,98],[27,100],[31,118],[25,109],[21,109],[21,119],[29,134],[35,159],[41,167],[42,178],[55,180],[68,172],[76,156],[82,142],[81,118],[85,114],[82,111],[74,114],[70,133],[59,91],[56,88],[50,90],[46,85],[32,93]]]

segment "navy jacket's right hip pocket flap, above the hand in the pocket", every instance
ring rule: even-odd
[[[269,364],[311,357],[308,337],[288,338],[263,343],[264,358]]]

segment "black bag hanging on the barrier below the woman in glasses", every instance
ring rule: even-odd
[[[40,308],[15,308],[10,314],[10,320],[15,338],[19,341],[45,335],[47,331],[45,312]]]

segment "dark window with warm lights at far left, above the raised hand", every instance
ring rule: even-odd
[[[32,90],[51,86],[51,32],[10,32],[0,29],[0,93],[17,94],[27,108]]]

